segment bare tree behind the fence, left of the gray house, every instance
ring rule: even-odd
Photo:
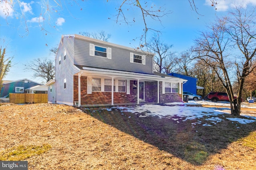
[[[34,59],[28,64],[24,64],[26,70],[34,72],[34,77],[41,77],[46,82],[52,80],[55,77],[54,61],[50,59]]]

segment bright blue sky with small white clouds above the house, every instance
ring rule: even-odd
[[[148,6],[152,6],[153,9],[161,7],[161,10],[165,8],[165,11],[170,14],[161,18],[162,23],[153,20],[147,20],[147,23],[149,27],[162,32],[161,40],[173,45],[173,52],[180,53],[193,45],[199,31],[206,29],[207,23],[214,21],[216,16],[226,15],[232,3],[236,1],[238,0],[218,0],[215,6],[217,10],[215,10],[210,0],[194,0],[200,14],[198,15],[190,7],[188,0],[148,0]],[[12,8],[8,6],[11,2]],[[111,43],[127,47],[139,45],[138,40],[133,40],[142,35],[144,28],[138,9],[124,6],[124,9],[129,9],[125,10],[126,18],[130,21],[135,18],[134,24],[127,25],[115,21],[116,8],[122,0],[77,1],[79,4],[73,0],[62,0],[61,7],[57,6],[53,0],[49,0],[50,11],[47,13],[45,13],[44,2],[46,0],[20,0],[20,2],[0,0],[1,45],[7,47],[6,57],[14,57],[12,60],[14,66],[4,80],[28,78],[42,82],[42,79],[34,78],[31,71],[24,70],[24,64],[37,58],[54,60],[55,56],[50,54],[49,50],[60,42],[62,34],[103,30],[112,35],[109,39]],[[243,4],[256,5],[256,0],[244,0]],[[9,7],[8,17],[3,12],[5,6]],[[44,25],[45,30],[42,30],[40,25]],[[150,38],[150,32],[148,38]]]

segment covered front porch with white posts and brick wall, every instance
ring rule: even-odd
[[[183,80],[179,78],[83,67],[74,75],[74,103],[78,106],[161,103],[163,82],[178,84],[178,91],[169,96],[179,96],[182,101]]]

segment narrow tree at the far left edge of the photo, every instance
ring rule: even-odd
[[[11,61],[12,57],[5,58],[6,55],[6,48],[2,49],[2,46],[0,47],[0,92],[2,89],[2,80],[8,73],[11,67]]]

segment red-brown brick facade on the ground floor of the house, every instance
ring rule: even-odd
[[[87,94],[87,77],[81,76],[81,105],[109,104],[111,105],[111,92],[92,92]],[[145,102],[157,103],[157,82],[145,83]],[[136,104],[137,88],[136,81],[130,80],[130,94],[126,92],[114,92],[114,104]],[[162,94],[162,82],[159,82],[160,103],[181,102],[179,94]],[[78,76],[74,76],[74,102],[78,102]]]

